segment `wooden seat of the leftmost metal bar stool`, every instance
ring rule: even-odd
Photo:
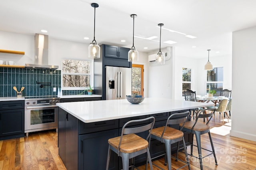
[[[121,136],[108,139],[108,144],[118,149]],[[122,138],[120,152],[132,153],[148,147],[148,141],[136,134],[126,134]]]

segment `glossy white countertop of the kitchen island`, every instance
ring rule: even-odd
[[[57,103],[57,105],[84,123],[213,106],[210,103],[162,98],[145,98],[137,105],[129,103],[126,99]]]

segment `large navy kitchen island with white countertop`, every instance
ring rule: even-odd
[[[66,168],[99,170],[105,169],[106,166],[108,139],[119,136],[122,126],[127,121],[154,116],[155,127],[158,127],[165,125],[172,113],[213,104],[145,98],[138,105],[131,104],[126,99],[57,103],[57,105],[59,155]],[[184,138],[187,144],[191,142],[189,133],[184,132]],[[161,142],[157,140],[150,142],[150,154],[153,156],[162,154],[163,150]],[[121,162],[112,152],[110,169],[122,169]],[[136,157],[136,164],[140,165],[142,162],[146,162],[146,155]]]

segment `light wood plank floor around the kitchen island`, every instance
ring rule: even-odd
[[[219,114],[210,121],[211,134],[218,160],[215,165],[213,155],[203,159],[204,170],[256,170],[256,142],[229,136],[231,123],[222,124]],[[231,121],[231,119],[230,119]],[[0,170],[66,170],[58,156],[58,134],[55,131],[30,133],[28,138],[0,140]],[[208,134],[201,136],[202,147],[211,149]],[[196,143],[196,139],[194,139]],[[190,153],[190,147],[188,147]],[[196,155],[197,148],[193,148]],[[208,152],[202,152],[206,155]],[[179,152],[179,158],[184,160],[184,153]],[[174,154],[175,156],[175,154]],[[198,159],[189,156],[192,170],[199,170]],[[154,164],[167,170],[164,158]],[[172,169],[177,169],[183,163],[172,159]],[[140,166],[140,170],[145,166]],[[148,166],[148,169],[150,167]],[[160,170],[153,165],[154,170]],[[188,167],[183,168],[188,170]]]

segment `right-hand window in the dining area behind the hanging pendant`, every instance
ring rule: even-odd
[[[220,96],[223,89],[223,67],[216,67],[207,71],[206,93],[209,90],[215,90],[214,96]]]

